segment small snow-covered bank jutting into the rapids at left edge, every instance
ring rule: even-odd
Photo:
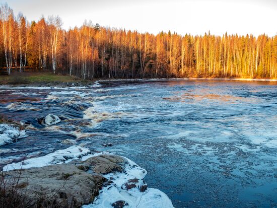
[[[19,138],[26,137],[25,130],[8,124],[0,124],[0,146],[17,142]]]

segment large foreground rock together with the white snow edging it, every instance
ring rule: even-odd
[[[5,166],[0,202],[49,208],[173,207],[165,193],[148,188],[146,174],[127,158],[72,146]]]

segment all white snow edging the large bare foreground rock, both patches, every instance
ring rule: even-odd
[[[109,154],[107,152],[93,154],[88,148],[79,146],[72,146],[64,150],[57,150],[48,155],[30,158],[20,163],[13,163],[5,166],[4,171],[20,168],[43,167],[51,164],[68,163],[74,159],[87,160],[90,157],[98,156],[101,154]],[[110,180],[109,185],[100,190],[99,196],[83,208],[113,208],[112,203],[116,201],[125,201],[124,207],[131,208],[171,208],[173,207],[171,200],[162,191],[155,188],[147,188],[143,192],[140,188],[145,182],[143,178],[146,176],[147,171],[131,160],[126,160],[125,169],[122,173],[114,172],[103,175]],[[137,179],[136,186],[132,188],[124,188],[124,185],[133,179]]]

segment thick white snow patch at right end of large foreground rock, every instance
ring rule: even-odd
[[[95,198],[93,203],[83,205],[83,208],[113,208],[112,204],[116,201],[123,200],[128,205],[126,208],[171,208],[173,207],[171,200],[168,196],[156,188],[147,188],[141,192],[138,187],[129,190],[122,189],[128,180],[138,179],[141,183],[142,179],[146,176],[147,171],[133,161],[125,158],[127,164],[122,173],[109,173],[104,175],[113,183],[109,186],[103,187],[99,196]]]

